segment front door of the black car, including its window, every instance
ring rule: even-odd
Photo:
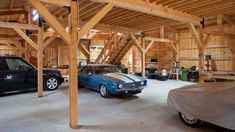
[[[27,68],[18,62],[18,58],[6,58],[8,70],[5,72],[4,81],[8,83],[9,91],[27,89]]]

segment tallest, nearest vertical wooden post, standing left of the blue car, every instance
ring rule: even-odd
[[[77,51],[78,51],[78,3],[71,2],[71,45],[69,46],[69,108],[70,127],[78,128],[78,80],[77,80]]]

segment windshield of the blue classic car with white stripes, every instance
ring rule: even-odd
[[[120,72],[116,66],[97,66],[94,67],[95,74],[106,74]]]

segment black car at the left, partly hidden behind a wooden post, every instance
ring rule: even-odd
[[[59,70],[43,69],[46,90],[64,82]],[[37,68],[20,57],[0,56],[0,93],[37,88]]]

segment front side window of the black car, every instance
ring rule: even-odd
[[[30,65],[20,59],[6,59],[6,63],[10,71],[25,71],[32,69]]]

